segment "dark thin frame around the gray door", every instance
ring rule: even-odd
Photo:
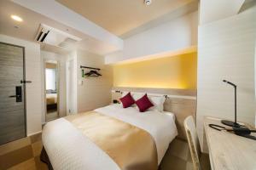
[[[25,53],[25,47],[20,46],[20,45],[15,45],[12,43],[7,43],[7,42],[0,42],[2,44],[5,45],[9,45],[9,46],[13,46],[13,47],[18,47],[18,48],[22,48],[22,55],[23,55],[23,80],[22,81],[26,81],[26,53]],[[21,80],[20,80],[21,81]],[[25,138],[27,137],[27,126],[26,126],[26,83],[22,83],[23,86],[23,99],[24,99],[24,124],[25,124]],[[10,141],[12,142],[12,141]]]

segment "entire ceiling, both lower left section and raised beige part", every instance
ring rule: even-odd
[[[66,24],[63,20],[49,17],[47,15],[49,14],[48,8],[44,7],[44,14],[39,14],[38,10],[27,8],[24,5],[21,6],[17,2],[19,1],[0,0],[0,34],[35,42],[39,25],[45,24],[80,37],[82,41],[77,42],[74,48],[81,48],[100,55],[110,54],[117,50],[117,47],[108,41],[104,42],[101,39],[96,39],[96,37],[91,36],[89,33],[86,34],[86,29],[84,33],[84,29],[79,30],[72,24]],[[20,0],[20,2],[33,3],[33,0]],[[150,6],[144,5],[143,0],[44,0],[40,2],[49,4],[51,8],[54,8],[52,10],[55,10],[54,14],[56,15],[58,15],[58,9],[55,7],[59,5],[61,11],[65,11],[63,14],[66,14],[66,16],[60,13],[58,16],[61,15],[64,18],[69,16],[70,20],[78,20],[79,16],[80,18],[92,21],[93,23],[89,27],[96,32],[102,26],[102,31],[108,30],[119,37],[123,36],[125,38],[196,10],[198,0],[153,0]],[[40,5],[40,2],[33,3],[33,5],[42,9],[43,6]],[[72,13],[78,16],[71,16]],[[23,22],[11,20],[11,14],[19,15]],[[78,21],[75,22],[75,24],[77,23]],[[84,22],[79,24],[87,26]],[[106,32],[109,33],[108,31]],[[99,35],[106,37],[106,34]],[[68,53],[73,50],[56,48],[55,46],[43,43],[41,43],[41,48],[55,53]]]

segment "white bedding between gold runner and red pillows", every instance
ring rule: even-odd
[[[136,107],[124,109],[122,105],[108,105],[95,111],[112,116],[147,131],[156,144],[158,164],[165,156],[169,144],[177,136],[175,116],[171,112],[146,111],[139,112]]]

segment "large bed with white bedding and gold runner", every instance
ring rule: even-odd
[[[48,122],[42,140],[54,169],[155,170],[176,136],[171,112],[116,104]]]

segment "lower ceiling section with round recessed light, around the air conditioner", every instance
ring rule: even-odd
[[[17,22],[10,18],[11,14],[19,15],[23,22]],[[47,26],[54,27],[61,31],[66,31],[73,36],[82,38],[74,48],[81,48],[95,54],[108,54],[116,50],[108,43],[101,42],[84,33],[73,29],[72,27],[61,24],[56,20],[51,20],[42,14],[33,12],[28,8],[21,7],[9,0],[0,1],[0,34],[11,37],[21,38],[27,41],[34,42],[39,25],[43,23]],[[56,48],[46,44],[41,44],[41,48],[54,53],[67,53],[72,49]]]

